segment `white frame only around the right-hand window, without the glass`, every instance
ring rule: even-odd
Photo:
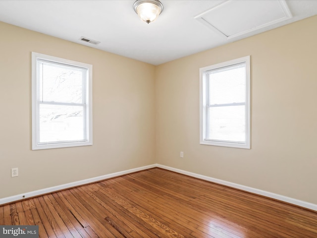
[[[245,143],[234,143],[228,141],[212,141],[206,139],[206,106],[207,106],[207,90],[206,90],[206,72],[213,69],[222,67],[228,67],[238,63],[246,64],[246,107],[245,107]],[[235,60],[229,60],[222,63],[213,64],[207,67],[200,68],[200,144],[203,145],[215,145],[215,146],[226,146],[235,148],[251,148],[250,142],[250,56],[242,57]]]

